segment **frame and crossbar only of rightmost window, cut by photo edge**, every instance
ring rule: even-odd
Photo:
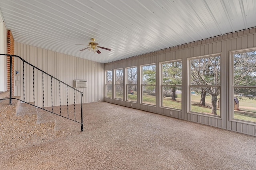
[[[246,123],[248,125],[256,125],[256,122],[246,121],[241,119],[234,118],[234,88],[256,88],[256,86],[235,86],[234,85],[234,54],[237,53],[245,53],[256,51],[256,47],[240,49],[240,50],[232,50],[229,51],[229,64],[230,64],[230,74],[229,74],[229,121],[237,122],[237,123]]]

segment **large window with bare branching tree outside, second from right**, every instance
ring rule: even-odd
[[[220,56],[190,59],[190,112],[220,115]]]

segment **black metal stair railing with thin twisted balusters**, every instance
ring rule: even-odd
[[[82,113],[83,113],[83,111],[82,111],[82,96],[84,95],[83,92],[81,92],[81,91],[75,89],[74,87],[72,87],[72,86],[70,86],[70,85],[68,85],[68,84],[66,84],[66,83],[64,83],[64,82],[62,82],[62,81],[59,80],[58,78],[55,78],[54,76],[48,74],[47,72],[41,70],[40,68],[37,68],[36,66],[34,66],[34,65],[30,64],[30,63],[28,63],[27,61],[25,61],[24,59],[22,59],[22,58],[21,58],[20,56],[18,56],[18,55],[9,55],[9,54],[0,54],[0,55],[10,56],[10,97],[9,97],[9,99],[10,99],[10,104],[12,103],[12,57],[18,57],[21,61],[23,61],[23,68],[24,68],[24,63],[26,63],[26,64],[28,64],[28,65],[30,65],[30,66],[33,67],[33,76],[34,76],[34,68],[36,68],[37,70],[39,70],[40,72],[42,72],[43,75],[46,74],[46,75],[50,76],[51,78],[54,78],[55,80],[57,80],[59,83],[65,84],[65,85],[67,86],[67,90],[68,90],[68,87],[70,87],[70,88],[72,88],[73,90],[76,90],[78,93],[80,93],[80,98],[81,98],[81,99],[80,99],[80,100],[81,100],[81,122],[76,121],[76,116],[75,116],[75,120],[73,120],[73,119],[70,119],[70,120],[80,123],[80,124],[81,124],[81,131],[83,131],[83,115],[82,115]],[[23,70],[23,72],[24,72],[24,70]],[[24,75],[23,75],[23,76],[24,76]],[[23,80],[24,80],[24,78],[23,78]],[[34,81],[34,79],[33,79],[33,81]],[[43,83],[43,85],[44,85],[44,83]],[[34,85],[33,85],[33,86],[34,86]],[[24,86],[23,86],[23,88],[24,88]],[[33,88],[34,88],[34,87],[33,87]],[[44,91],[44,90],[43,90],[43,91]],[[43,94],[43,95],[44,95],[44,94]],[[75,93],[74,93],[74,95],[75,95]],[[68,98],[68,91],[67,91],[67,98]],[[17,99],[17,98],[13,98],[13,99]],[[19,100],[19,99],[17,99],[17,100]],[[24,100],[25,100],[25,98],[24,98]],[[22,100],[20,100],[20,101],[22,101]],[[25,101],[23,101],[23,102],[25,102]],[[28,103],[28,102],[25,102],[25,103],[30,104],[30,103]],[[30,105],[32,105],[32,104],[30,104]],[[32,106],[39,107],[39,106],[36,106],[35,104],[32,105]],[[43,109],[43,110],[45,110],[45,111],[48,111],[48,110],[46,110],[46,109],[44,109],[44,108],[42,108],[42,107],[39,107],[39,108],[40,108],[40,109]],[[60,109],[61,109],[61,108],[60,108]],[[53,111],[49,111],[49,112],[50,112],[50,113],[54,113]],[[61,113],[61,112],[60,112],[60,113]],[[54,114],[59,115],[59,114],[57,114],[57,113],[54,113]],[[64,116],[62,116],[61,114],[60,114],[59,116],[64,117]],[[65,118],[69,119],[68,117],[65,117]]]

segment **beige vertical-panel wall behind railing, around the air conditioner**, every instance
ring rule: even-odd
[[[103,101],[103,86],[104,86],[104,64],[80,59],[70,55],[57,53],[54,51],[26,45],[15,42],[15,55],[19,55],[25,61],[34,64],[36,67],[44,70],[48,74],[65,82],[73,87],[74,79],[86,79],[88,82],[87,88],[78,88],[84,92],[83,103]],[[16,76],[16,80],[20,79],[20,86],[15,86],[15,96],[21,96],[23,99],[23,77],[22,77],[22,62],[19,59],[15,61],[15,70],[20,70],[20,77]],[[33,69],[24,64],[24,79],[25,79],[25,101],[33,102]],[[99,77],[99,78],[97,78]],[[34,69],[34,87],[36,92],[42,94],[42,73]],[[59,106],[59,82],[52,79],[53,86],[53,106]],[[54,88],[56,87],[56,88]],[[66,85],[61,85],[61,104],[74,104],[74,91],[68,88],[68,101]],[[44,105],[51,106],[51,78],[44,74]],[[76,103],[80,102],[80,97],[75,93]],[[94,100],[94,101],[93,101]],[[35,101],[39,106],[43,106],[42,97],[35,93]]]

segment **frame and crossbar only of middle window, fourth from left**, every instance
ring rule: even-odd
[[[155,80],[156,80],[156,63],[151,63],[151,64],[144,64],[144,65],[140,65],[140,104],[142,105],[148,105],[148,106],[154,106],[156,107],[156,83],[155,84],[143,84],[143,67],[144,66],[155,66]],[[143,103],[143,87],[147,87],[147,86],[154,86],[155,89],[155,104],[148,104],[148,103]]]

